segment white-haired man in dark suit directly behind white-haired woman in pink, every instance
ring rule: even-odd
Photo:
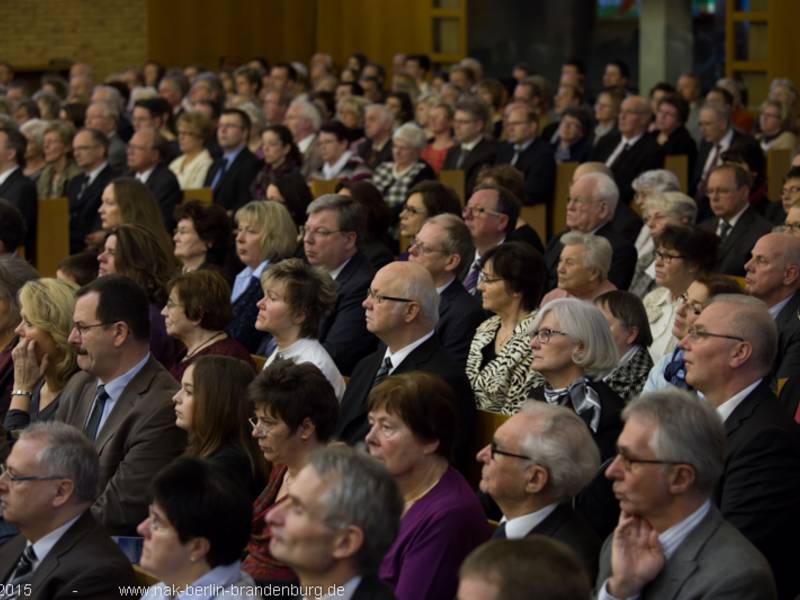
[[[619,191],[614,180],[602,173],[587,173],[576,179],[569,189],[567,203],[567,229],[579,233],[593,233],[611,243],[612,258],[608,279],[621,290],[628,289],[636,268],[636,248],[614,230],[611,219],[617,209]],[[544,253],[545,266],[549,274],[546,289],[557,284],[557,264],[564,245],[562,232],[550,240]]]

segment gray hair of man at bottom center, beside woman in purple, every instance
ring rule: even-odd
[[[307,466],[330,483],[320,497],[323,521],[361,529],[364,544],[354,558],[360,574],[374,573],[400,529],[403,499],[394,479],[376,459],[343,444],[317,450]]]

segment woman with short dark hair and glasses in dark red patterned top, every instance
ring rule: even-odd
[[[294,571],[269,551],[272,531],[264,517],[287,499],[289,486],[308,457],[333,436],[339,403],[317,367],[290,360],[277,360],[259,373],[248,395],[255,406],[255,418],[250,419],[253,437],[273,468],[253,505],[243,568],[262,584],[291,583],[296,581]]]

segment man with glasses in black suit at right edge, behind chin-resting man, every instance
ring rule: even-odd
[[[782,598],[800,593],[800,433],[765,379],[777,350],[763,302],[714,298],[681,341],[686,383],[725,423],[728,456],[716,501],[722,515],[764,553]]]

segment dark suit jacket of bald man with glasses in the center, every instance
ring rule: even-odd
[[[364,441],[369,431],[367,423],[367,396],[375,381],[386,346],[380,344],[378,349],[362,359],[353,371],[353,376],[347,384],[347,389],[342,398],[339,410],[339,421],[336,425],[336,437],[350,445]],[[456,425],[456,457],[457,464],[466,458],[467,443],[472,435],[472,426],[475,422],[475,402],[469,386],[464,367],[459,366],[442,349],[436,335],[426,340],[414,349],[406,359],[401,362],[393,375],[408,373],[410,371],[426,371],[439,375],[453,388],[456,395],[456,410],[459,423]],[[463,464],[463,463],[462,463]]]

